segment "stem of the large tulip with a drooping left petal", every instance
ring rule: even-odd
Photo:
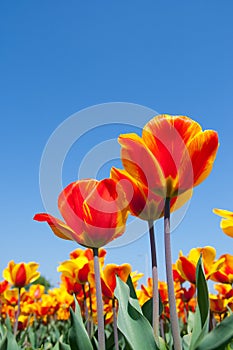
[[[94,270],[95,270],[95,288],[97,302],[97,322],[98,322],[98,350],[105,350],[105,335],[104,335],[104,310],[102,300],[102,288],[100,280],[100,263],[98,256],[98,248],[93,248],[94,255]]]

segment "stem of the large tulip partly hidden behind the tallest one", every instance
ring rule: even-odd
[[[151,263],[152,263],[152,280],[153,280],[153,310],[152,323],[156,343],[159,344],[159,288],[158,288],[158,268],[156,257],[156,243],[154,222],[148,221],[150,233]]]

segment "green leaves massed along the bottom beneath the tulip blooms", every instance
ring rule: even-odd
[[[156,344],[151,327],[152,299],[142,308],[139,305],[131,278],[124,283],[116,276],[115,296],[118,299],[119,350],[172,350],[173,340],[169,320],[163,315],[164,339]],[[202,259],[196,268],[197,307],[189,312],[188,324],[180,320],[183,350],[231,350],[233,349],[233,313],[209,332],[209,299]],[[160,315],[163,305],[160,300]],[[93,326],[91,339],[88,336],[81,310],[75,301],[75,312],[70,309],[70,320],[54,318],[43,323],[36,320],[31,326],[13,335],[9,317],[0,322],[0,350],[98,350],[97,326]],[[112,324],[105,327],[106,350],[115,350]]]

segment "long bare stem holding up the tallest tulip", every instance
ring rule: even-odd
[[[165,259],[166,273],[168,286],[168,301],[170,308],[170,321],[173,335],[173,343],[175,350],[181,350],[180,330],[178,315],[176,312],[176,299],[172,272],[172,254],[171,254],[171,236],[170,236],[170,198],[165,200],[164,208],[164,244],[165,244]]]

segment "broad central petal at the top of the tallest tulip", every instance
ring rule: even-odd
[[[166,178],[176,179],[182,167],[186,144],[201,126],[185,116],[159,115],[143,128],[142,138],[158,160]]]

